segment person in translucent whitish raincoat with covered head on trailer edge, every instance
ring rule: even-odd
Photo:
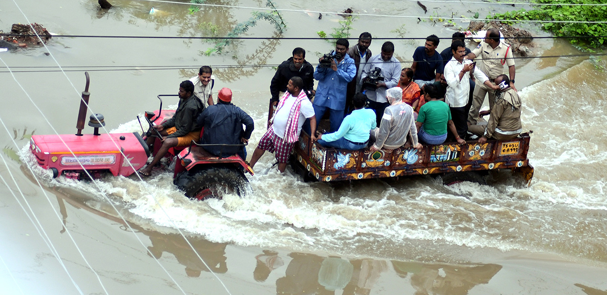
[[[386,91],[386,97],[390,106],[384,110],[382,123],[379,125],[381,127],[371,131],[371,137],[375,138],[375,143],[370,148],[371,152],[382,148],[398,149],[405,143],[413,144],[413,148],[421,149],[413,108],[402,102],[402,89],[398,86],[390,88]]]

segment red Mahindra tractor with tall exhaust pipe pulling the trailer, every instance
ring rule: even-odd
[[[146,112],[145,115],[149,124],[147,132],[100,134],[99,128],[105,126],[104,117],[101,114],[92,114],[89,126],[95,128],[93,134],[82,134],[90,97],[89,74],[85,73],[85,75],[86,88],[82,92],[76,123],[78,132],[33,135],[30,150],[39,166],[52,170],[53,177],[64,175],[78,180],[95,179],[107,173],[128,177],[145,166],[151,154],[154,156],[158,152],[161,135],[154,132],[156,129],[152,128],[152,125],[160,124],[175,114],[175,111],[162,109],[161,96],[176,95],[158,96],[160,99],[158,111]],[[202,132],[204,130],[201,134]],[[145,141],[150,136],[157,137],[152,151]],[[245,172],[253,175],[253,169],[238,155],[222,158],[209,154],[204,149],[208,145],[192,141],[188,148],[169,150],[165,157],[175,161],[174,184],[189,198],[220,198],[224,193],[237,193],[242,196],[249,188]],[[229,144],[223,145],[229,146]]]

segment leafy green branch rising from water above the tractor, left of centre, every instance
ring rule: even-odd
[[[192,0],[192,1],[203,1],[203,0]],[[234,38],[234,37],[239,36],[240,34],[244,34],[244,33],[246,33],[246,31],[249,30],[249,28],[255,27],[255,25],[257,25],[257,21],[262,20],[262,19],[264,21],[270,22],[270,24],[273,24],[274,28],[276,28],[276,31],[278,33],[282,33],[284,30],[286,30],[287,25],[285,25],[285,22],[283,21],[282,16],[280,16],[280,13],[278,12],[278,10],[276,10],[276,7],[272,3],[272,1],[268,0],[268,2],[266,2],[266,6],[272,7],[272,8],[274,8],[274,10],[271,10],[270,12],[254,11],[253,13],[251,13],[251,15],[253,15],[253,16],[251,16],[251,18],[249,18],[248,20],[246,20],[244,22],[240,22],[239,24],[236,24],[234,29],[232,29],[232,31],[229,32],[228,36],[226,36],[226,37]],[[202,51],[201,53],[205,54],[206,56],[210,56],[211,54],[214,54],[214,53],[221,54],[223,52],[223,49],[228,47],[228,45],[230,45],[232,43],[234,43],[234,39],[217,39],[217,41],[215,42],[215,47],[208,48],[206,51]]]

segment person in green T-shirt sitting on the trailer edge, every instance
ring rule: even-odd
[[[443,144],[447,139],[447,128],[455,136],[459,144],[466,143],[459,137],[451,120],[451,111],[445,102],[438,100],[439,91],[433,84],[424,87],[426,103],[419,109],[417,122],[419,140],[427,144]]]

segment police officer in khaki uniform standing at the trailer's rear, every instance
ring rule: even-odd
[[[480,62],[478,62],[479,70],[489,77],[489,80],[495,85],[495,78],[504,74],[504,64],[508,66],[508,73],[510,76],[510,88],[515,91],[517,88],[514,87],[514,59],[512,58],[512,50],[510,45],[500,41],[500,31],[496,28],[490,28],[487,30],[484,42],[478,44],[475,50],[472,50],[466,57],[467,59],[475,59],[480,56]],[[472,106],[468,113],[468,123],[470,125],[476,125],[478,119],[478,111],[480,111],[483,105],[485,95],[489,93],[489,109],[493,107],[493,91],[487,85],[482,83],[476,83],[474,87],[474,97],[472,99]]]

